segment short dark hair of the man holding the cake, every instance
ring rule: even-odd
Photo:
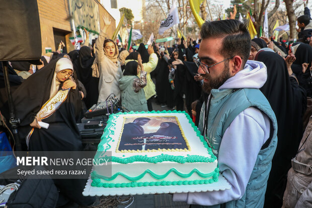
[[[222,47],[219,51],[225,58],[241,56],[243,66],[248,60],[251,49],[251,38],[248,31],[248,21],[220,20],[205,22],[201,26],[202,39],[221,37]],[[209,46],[208,46],[209,47]]]

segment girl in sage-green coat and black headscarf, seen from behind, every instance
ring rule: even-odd
[[[140,78],[136,75],[140,72]],[[121,105],[126,111],[148,111],[143,87],[146,86],[146,72],[142,60],[126,63],[123,77],[119,80]]]

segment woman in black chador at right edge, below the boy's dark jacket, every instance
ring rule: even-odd
[[[293,73],[298,78],[299,85],[306,91],[307,97],[312,97],[312,79],[310,67],[312,61],[312,47],[309,44],[299,43],[292,46],[296,60],[291,66]],[[307,63],[305,72],[302,71],[302,64]]]

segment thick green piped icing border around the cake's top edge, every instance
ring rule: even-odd
[[[128,113],[122,113],[118,112],[116,114],[111,114],[109,116],[109,119],[107,121],[106,128],[104,129],[104,133],[101,137],[101,142],[98,146],[98,151],[100,152],[106,152],[111,149],[110,142],[113,140],[111,135],[114,135],[114,130],[116,129],[116,123],[113,122],[115,118],[117,118],[117,115],[120,114],[142,114],[146,113],[145,111],[142,112],[133,112],[130,111]],[[191,117],[189,114],[187,114],[185,111],[150,111],[149,113],[184,113],[186,118],[189,120],[189,123],[192,125],[194,131],[196,132],[196,135],[199,137],[200,141],[203,143],[204,147],[208,150],[209,155],[211,155],[211,158],[206,158],[204,156],[198,156],[198,155],[187,155],[187,157],[184,156],[173,156],[173,155],[167,155],[167,154],[162,154],[159,156],[154,156],[154,157],[147,157],[142,156],[142,155],[135,155],[131,156],[128,158],[119,158],[115,156],[111,156],[112,162],[117,162],[121,164],[128,164],[128,163],[133,163],[133,162],[147,162],[147,163],[161,163],[164,161],[170,161],[170,162],[177,162],[177,163],[186,163],[186,162],[191,162],[191,163],[196,163],[196,162],[206,162],[206,163],[212,163],[214,162],[217,158],[215,155],[213,155],[211,148],[208,146],[207,142],[204,140],[204,137],[200,134],[200,131],[197,129],[195,124],[193,123]],[[101,156],[96,154],[95,158],[100,159]]]

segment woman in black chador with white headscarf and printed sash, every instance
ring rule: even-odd
[[[14,92],[16,115],[20,118],[20,138],[30,151],[82,151],[76,116],[82,107],[81,95],[71,78],[73,66],[67,58],[52,60],[25,80]],[[39,121],[49,124],[40,127]],[[93,197],[83,197],[83,179],[54,179],[59,189],[58,205],[68,200],[90,205]],[[60,199],[66,200],[60,200]]]

